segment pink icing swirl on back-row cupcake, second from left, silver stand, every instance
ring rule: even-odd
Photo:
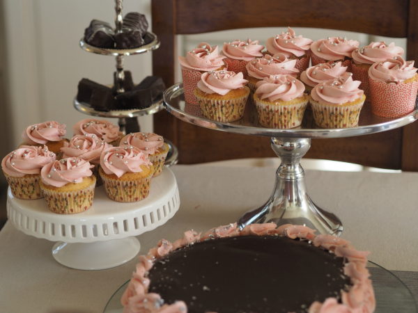
[[[261,53],[263,49],[264,47],[258,44],[258,40],[251,41],[248,38],[247,41],[235,40],[229,43],[224,42],[221,54],[231,60],[251,61],[254,58],[263,56]]]

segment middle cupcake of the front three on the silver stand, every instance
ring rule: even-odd
[[[256,84],[258,121],[268,128],[288,129],[302,123],[309,102],[302,81],[291,75],[265,77]]]

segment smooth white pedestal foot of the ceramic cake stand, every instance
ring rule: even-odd
[[[87,271],[101,270],[129,262],[137,256],[140,247],[135,237],[92,243],[58,241],[52,248],[52,256],[63,266]]]

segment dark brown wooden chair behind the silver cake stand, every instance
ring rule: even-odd
[[[418,64],[418,0],[152,0],[154,75],[174,81],[176,35],[252,27],[316,27],[408,38],[408,60]],[[167,112],[155,115],[155,131],[171,139],[180,163],[275,157],[270,138],[228,134],[190,125]],[[418,171],[418,122],[380,134],[316,139],[306,157],[364,166]]]

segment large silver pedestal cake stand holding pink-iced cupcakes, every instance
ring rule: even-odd
[[[258,123],[256,107],[249,99],[244,117],[236,122],[206,120],[199,110],[191,109],[185,102],[183,83],[176,83],[164,92],[164,106],[172,115],[194,125],[227,131],[235,134],[271,137],[271,146],[281,164],[276,172],[276,182],[270,198],[261,207],[252,209],[238,220],[240,227],[250,223],[274,222],[277,225],[298,224],[316,229],[320,234],[339,236],[343,230],[341,220],[316,206],[307,193],[304,170],[300,159],[311,147],[311,138],[342,138],[374,134],[408,125],[418,118],[415,111],[403,118],[380,118],[371,112],[368,102],[360,113],[359,125],[348,129],[323,129],[317,127],[311,111],[305,111],[302,125],[294,129],[268,129]]]

